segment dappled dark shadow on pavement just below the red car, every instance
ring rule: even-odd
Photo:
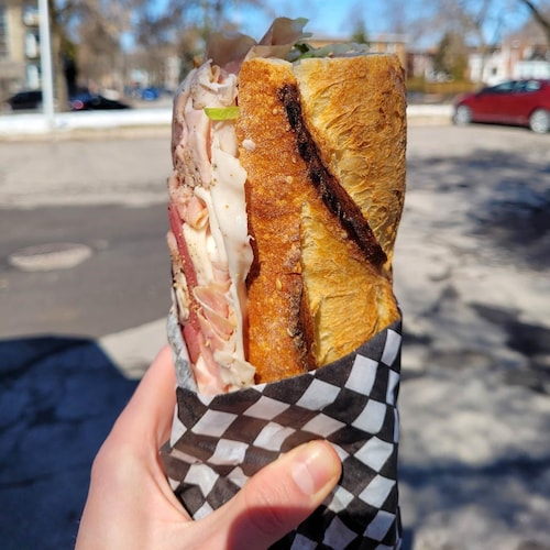
[[[454,195],[480,245],[498,248],[508,260],[529,268],[550,266],[550,163],[525,154],[480,148],[466,157],[411,160],[409,186]]]

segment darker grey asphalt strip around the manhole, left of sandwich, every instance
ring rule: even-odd
[[[158,319],[169,299],[165,234],[164,205],[3,211],[0,308],[9,316],[0,336],[100,338]],[[23,268],[10,264],[28,248],[36,248],[29,251],[36,258],[64,243],[84,246],[89,257],[72,268],[55,268],[55,258],[51,270],[30,257]]]

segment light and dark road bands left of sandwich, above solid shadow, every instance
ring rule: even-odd
[[[165,315],[169,163],[165,136],[0,143],[0,338],[99,338]],[[48,268],[67,243],[86,257]]]

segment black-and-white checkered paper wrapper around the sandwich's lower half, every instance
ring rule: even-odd
[[[168,338],[178,387],[162,455],[170,486],[194,519],[228,502],[282,453],[326,439],[342,461],[342,477],[323,504],[272,548],[399,548],[400,321],[330,365],[217,396],[196,392],[172,314]]]

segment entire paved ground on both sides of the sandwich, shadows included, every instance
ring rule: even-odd
[[[550,548],[549,150],[411,124],[408,549]],[[72,547],[92,457],[164,340],[169,166],[169,129],[0,142],[2,548]]]

